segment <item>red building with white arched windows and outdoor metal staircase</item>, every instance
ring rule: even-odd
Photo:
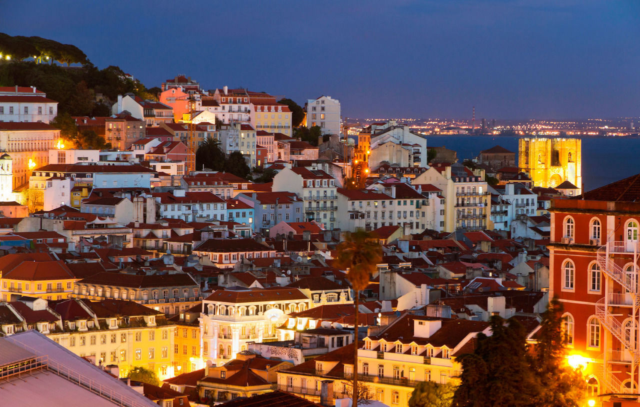
[[[583,199],[556,199],[552,209],[550,296],[564,307],[568,362],[582,366],[593,397],[637,399],[639,393],[636,178],[586,192]]]

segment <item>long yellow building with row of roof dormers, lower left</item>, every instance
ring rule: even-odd
[[[62,300],[22,297],[1,303],[6,335],[36,329],[56,343],[96,364],[117,365],[120,377],[145,367],[158,378],[173,376],[175,325],[164,314],[132,301]],[[11,318],[6,318],[10,315]]]

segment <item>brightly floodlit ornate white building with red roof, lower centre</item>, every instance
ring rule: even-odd
[[[277,341],[288,314],[305,311],[310,300],[289,287],[217,289],[202,301],[202,357],[213,363],[236,358],[248,342]]]

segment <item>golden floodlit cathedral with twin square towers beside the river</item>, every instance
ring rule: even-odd
[[[582,193],[582,141],[580,139],[520,139],[518,167],[533,185],[555,188],[564,181]]]

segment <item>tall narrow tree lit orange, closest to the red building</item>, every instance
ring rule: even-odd
[[[533,365],[545,385],[536,397],[538,406],[579,406],[586,382],[580,368],[572,369],[564,358],[562,332],[563,307],[557,298],[549,302],[543,314]]]

